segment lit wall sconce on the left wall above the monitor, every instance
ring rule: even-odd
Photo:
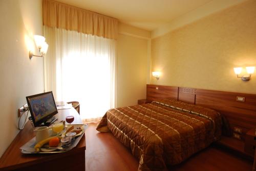
[[[44,36],[34,35],[34,40],[36,47],[39,48],[39,53],[41,55],[34,55],[32,51],[29,51],[29,59],[35,57],[44,57],[48,50],[48,44],[46,43],[46,38]]]

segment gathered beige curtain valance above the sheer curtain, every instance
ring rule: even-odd
[[[50,0],[42,1],[44,26],[117,39],[118,20]]]

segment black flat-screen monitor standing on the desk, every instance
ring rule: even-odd
[[[26,99],[35,127],[42,123],[47,125],[47,120],[58,113],[52,91],[30,95]]]

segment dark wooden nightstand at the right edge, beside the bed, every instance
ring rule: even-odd
[[[255,146],[256,146],[256,134],[255,129],[251,129],[245,135],[245,145],[244,151],[251,156],[255,154]]]

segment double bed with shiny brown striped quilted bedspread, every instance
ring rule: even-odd
[[[112,132],[139,159],[138,170],[163,170],[221,136],[221,114],[173,99],[110,109],[97,130]]]

